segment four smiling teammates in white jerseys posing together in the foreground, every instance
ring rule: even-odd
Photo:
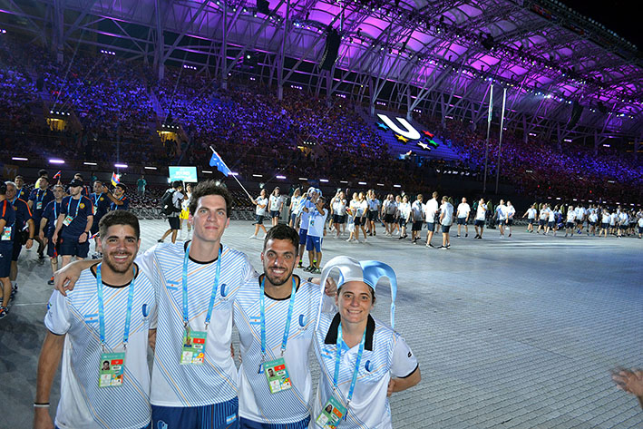
[[[305,212],[321,208],[316,193],[302,203]],[[393,269],[336,257],[320,279],[299,278],[293,270],[301,240],[281,224],[264,238],[258,275],[246,255],[221,242],[228,190],[206,181],[191,197],[190,241],[159,243],[137,256],[138,219],[112,211],[99,225],[102,260],[57,272],[44,318],[34,427],[392,427],[388,396],[421,378],[414,354],[393,330],[393,303],[390,324],[370,315],[380,278],[389,279],[395,297]],[[311,346],[321,371],[316,395]],[[49,397],[61,356],[53,420]]]

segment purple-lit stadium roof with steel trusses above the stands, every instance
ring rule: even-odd
[[[70,47],[112,47],[221,78],[254,73],[280,86],[407,112],[433,106],[473,122],[486,117],[494,83],[496,92],[508,88],[510,122],[560,128],[578,102],[580,122],[564,136],[643,132],[637,47],[557,0],[270,0],[263,12],[243,0],[67,0],[58,20],[54,0],[5,3],[1,21],[40,31],[44,41],[53,22]],[[330,28],[341,44],[329,73],[319,64]]]

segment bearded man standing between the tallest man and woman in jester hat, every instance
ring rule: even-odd
[[[295,229],[270,229],[261,252],[264,274],[246,282],[235,300],[241,428],[304,429],[310,422],[308,351],[322,290],[293,276],[298,243]]]

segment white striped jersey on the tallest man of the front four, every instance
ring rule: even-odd
[[[183,339],[182,270],[187,243],[164,243],[149,249],[141,268],[156,290],[159,307],[156,352],[151,375],[151,404],[200,406],[237,396],[237,368],[230,356],[232,303],[255,273],[243,253],[222,246],[219,287],[208,327],[203,365],[180,365]],[[217,262],[188,261],[190,329],[205,330],[205,318]]]

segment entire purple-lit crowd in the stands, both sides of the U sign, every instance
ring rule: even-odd
[[[113,55],[65,53],[54,55],[34,44],[24,49],[7,37],[0,40],[0,87],[5,103],[2,154],[21,152],[65,160],[124,161],[208,167],[214,147],[241,177],[278,174],[330,182],[401,184],[404,190],[434,186],[444,169],[439,160],[418,164],[396,160],[373,127],[344,99],[333,102],[286,89],[279,101],[275,91],[258,83],[228,90],[208,76],[181,68],[166,68],[165,78],[142,64]],[[158,105],[154,107],[154,102]],[[54,108],[73,112],[53,131],[39,112]],[[485,138],[460,122],[443,124],[421,118],[437,137],[461,157],[462,171],[482,179]],[[175,139],[161,142],[161,123],[180,125]],[[303,148],[303,149],[302,149]],[[498,143],[489,145],[490,178],[495,177]],[[536,197],[638,201],[643,196],[643,166],[631,157],[596,156],[580,145],[562,151],[549,142],[506,134],[502,144],[502,181]]]

